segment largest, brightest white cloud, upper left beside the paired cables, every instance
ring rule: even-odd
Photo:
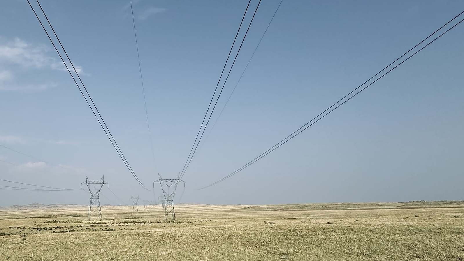
[[[13,41],[0,43],[0,63],[13,63],[25,68],[49,68],[67,72],[61,61],[49,56],[49,51],[50,48],[45,46],[34,46],[15,38]],[[69,67],[72,70],[72,67]],[[81,66],[75,67],[78,73],[82,72]]]

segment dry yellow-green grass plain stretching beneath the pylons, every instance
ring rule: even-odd
[[[0,260],[464,260],[464,202],[86,210],[0,209]]]

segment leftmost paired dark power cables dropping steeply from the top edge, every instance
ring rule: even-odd
[[[84,95],[84,92],[82,91],[81,87],[77,84],[77,81],[76,79],[74,78],[74,76],[72,75],[71,73],[71,70],[69,69],[68,65],[66,64],[66,62],[64,62],[64,59],[63,57],[61,56],[61,53],[58,51],[58,48],[55,46],[55,43],[53,42],[52,38],[50,37],[49,33],[47,32],[47,30],[45,29],[45,26],[42,24],[42,21],[40,20],[39,16],[37,15],[37,13],[35,12],[35,9],[34,7],[32,7],[31,5],[31,2],[29,0],[27,0],[27,3],[29,4],[29,6],[31,7],[32,9],[32,12],[34,12],[35,16],[37,17],[37,20],[39,20],[39,23],[40,23],[40,26],[42,26],[42,28],[44,29],[48,39],[50,39],[50,42],[52,43],[53,47],[55,48],[55,51],[58,53],[58,56],[60,57],[61,61],[63,62],[64,66],[66,67],[67,71],[69,72],[69,74],[71,75],[71,78],[73,79],[74,83],[76,84],[77,88],[79,89],[79,91],[81,92],[82,96],[84,97],[87,105],[89,105],[90,107],[90,110],[92,111],[93,115],[97,118],[97,121],[98,123],[100,124],[100,126],[102,127],[103,131],[105,132],[106,136],[108,137],[108,139],[110,139],[110,142],[111,144],[113,145],[113,147],[115,148],[116,152],[118,153],[119,157],[121,157],[121,160],[124,162],[124,164],[126,165],[126,167],[128,168],[129,172],[132,174],[132,176],[134,176],[135,180],[142,186],[142,188],[148,190],[143,184],[142,182],[139,180],[139,178],[137,177],[137,175],[135,175],[135,172],[134,170],[132,170],[132,168],[130,167],[129,165],[129,162],[126,160],[126,157],[124,157],[124,154],[122,153],[121,149],[119,148],[118,144],[116,143],[116,140],[114,139],[113,135],[111,134],[110,132],[110,129],[108,128],[108,126],[106,125],[106,123],[104,122],[103,120],[103,117],[101,116],[100,112],[98,111],[97,109],[97,106],[95,105],[95,103],[93,102],[93,99],[91,98],[89,92],[87,91],[87,88],[85,87],[84,83],[82,82],[82,79],[80,78],[79,74],[77,73],[77,70],[76,68],[74,67],[74,65],[72,64],[71,62],[71,59],[69,58],[68,56],[68,53],[66,52],[66,50],[64,49],[63,45],[61,44],[61,41],[60,39],[58,38],[58,35],[56,34],[55,30],[53,29],[53,26],[52,24],[50,23],[50,20],[48,19],[47,15],[45,14],[45,11],[43,10],[42,6],[40,5],[39,3],[39,0],[36,0],[37,3],[39,4],[39,7],[40,9],[42,10],[42,13],[44,14],[49,26],[52,28],[52,31],[55,35],[55,37],[57,38],[61,48],[63,49],[64,53],[66,54],[66,57],[68,58],[72,68],[74,69],[74,72],[76,73],[77,75],[77,78],[79,78],[79,81],[80,83],[82,84],[82,86],[84,87],[84,90],[85,92],[87,93],[87,95],[89,96],[90,98],[90,101],[91,103],[93,104],[93,106],[95,107],[95,110],[97,111],[98,115],[100,118],[98,118],[97,114],[95,113],[94,109],[92,108],[92,106],[90,105],[89,101],[87,100],[87,97]],[[101,119],[101,121],[100,121]],[[103,127],[103,124],[105,125],[105,127]],[[108,132],[107,132],[108,131]],[[111,137],[110,137],[111,136]]]

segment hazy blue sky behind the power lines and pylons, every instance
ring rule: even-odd
[[[213,121],[279,2],[262,1]],[[155,164],[129,1],[41,4],[137,176],[147,187],[157,172],[174,177],[247,1],[134,1]],[[0,160],[8,162],[0,162],[1,176],[78,188],[85,175],[104,175],[126,203],[136,195],[152,199],[125,169],[27,2],[1,6],[0,23],[7,26],[0,30],[0,144],[40,159],[0,147]],[[463,199],[462,25],[258,163],[196,190],[267,150],[463,8],[462,1],[284,0],[202,140],[184,176],[182,201]],[[0,190],[0,205],[88,202],[82,191],[26,192]],[[102,193],[102,203],[119,202],[108,190]]]

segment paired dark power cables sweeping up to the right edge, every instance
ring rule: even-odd
[[[451,21],[455,20],[456,18],[458,18],[458,16],[460,16],[463,12],[459,13],[457,16],[455,16],[453,19],[451,19],[450,21],[448,21],[444,26],[448,25]],[[444,26],[441,26],[440,28],[438,28],[435,32],[433,32],[432,34],[430,34],[429,36],[427,36],[424,40],[420,41],[419,44],[417,44],[416,46],[412,47],[409,51],[405,52],[403,55],[401,55],[398,59],[396,59],[395,61],[393,61],[391,64],[389,64],[388,66],[386,66],[384,69],[382,69],[380,72],[376,73],[373,77],[369,78],[366,82],[364,82],[362,85],[358,86],[357,88],[355,88],[353,91],[349,92],[345,97],[343,97],[342,99],[340,99],[339,101],[337,101],[335,104],[333,104],[332,106],[330,106],[329,108],[327,108],[325,111],[322,111],[318,116],[314,117],[313,119],[311,119],[308,123],[304,124],[302,127],[300,127],[298,130],[294,131],[292,134],[290,134],[289,136],[285,137],[283,140],[281,140],[280,142],[278,142],[276,145],[272,146],[269,150],[266,150],[264,153],[262,153],[261,155],[259,155],[258,157],[254,158],[253,160],[251,160],[250,162],[246,163],[245,165],[243,165],[242,167],[240,167],[238,170],[235,170],[234,172],[232,172],[231,174],[219,179],[218,181],[214,182],[214,183],[211,183],[205,187],[202,187],[200,189],[206,189],[208,187],[211,187],[217,183],[220,183],[224,180],[226,180],[227,178],[237,174],[238,172],[244,170],[245,168],[249,167],[251,164],[257,162],[258,160],[260,160],[261,158],[265,157],[266,155],[268,155],[269,153],[271,153],[272,151],[276,150],[277,148],[279,148],[280,146],[282,146],[283,144],[287,143],[290,139],[296,137],[296,135],[300,134],[301,132],[303,132],[304,130],[308,129],[310,126],[312,126],[313,124],[316,124],[316,122],[318,122],[319,120],[321,120],[323,117],[329,115],[329,113],[331,113],[332,111],[335,111],[338,107],[342,106],[343,104],[345,104],[346,102],[348,102],[351,98],[353,98],[354,96],[358,95],[361,91],[364,91],[367,89],[367,87],[371,86],[372,84],[374,84],[375,82],[377,82],[378,80],[380,80],[380,78],[384,77],[385,75],[387,75],[389,72],[393,71],[395,68],[397,68],[398,66],[400,66],[401,64],[403,64],[404,62],[406,62],[408,59],[410,59],[412,56],[414,56],[416,53],[420,52],[421,50],[423,50],[425,47],[429,46],[430,44],[432,44],[435,40],[437,40],[438,38],[440,38],[441,36],[443,36],[445,33],[448,33],[451,29],[453,29],[455,26],[457,26],[458,24],[460,24],[463,20],[460,20],[457,24],[455,24],[454,26],[452,26],[451,28],[449,28],[448,30],[446,30],[444,33],[441,33],[440,35],[438,35],[438,37],[436,37],[435,39],[433,39],[431,42],[429,42],[428,44],[426,44],[425,46],[421,47],[418,51],[412,53],[410,56],[408,56],[406,59],[404,59],[402,62],[400,62],[398,65],[395,65],[392,69],[388,70],[387,72],[385,72],[384,74],[382,74],[379,78],[377,78],[376,80],[374,80],[372,83],[370,83],[369,85],[366,85],[364,88],[362,88],[360,91],[357,91],[354,95],[352,95],[351,97],[349,97],[348,99],[346,99],[345,101],[343,101],[341,104],[337,105],[335,108],[333,108],[332,110],[330,110],[332,107],[334,107],[336,104],[338,104],[340,101],[342,101],[344,98],[348,97],[351,93],[353,93],[354,91],[356,91],[357,89],[359,89],[362,85],[366,84],[370,79],[374,78],[375,76],[377,76],[378,74],[380,74],[381,72],[383,72],[387,67],[389,67],[390,65],[392,65],[394,62],[396,62],[397,60],[401,59],[403,56],[405,56],[407,53],[411,52],[412,49],[414,49],[415,47],[419,46],[422,42],[424,42],[426,39],[430,38],[433,34],[437,33],[440,29],[442,29]],[[329,111],[330,110],[330,111]],[[329,111],[327,113],[325,113],[326,111]],[[325,113],[325,114],[324,114]],[[319,117],[321,116],[322,114],[324,114],[322,117]],[[318,118],[319,117],[319,118]],[[318,118],[316,121],[314,121],[316,118]],[[313,122],[314,121],[314,122]],[[312,122],[312,123],[311,123]],[[310,124],[311,123],[311,124]],[[309,125],[308,125],[309,124]]]

